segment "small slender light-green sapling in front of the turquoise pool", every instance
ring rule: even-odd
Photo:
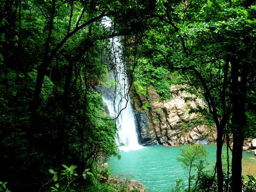
[[[177,158],[177,161],[182,162],[182,166],[185,170],[185,176],[188,178],[188,192],[190,192],[193,186],[193,191],[196,191],[196,187],[199,181],[199,172],[205,167],[207,150],[204,150],[202,146],[193,144],[192,146],[180,148],[181,158]],[[195,183],[192,184],[192,181]]]

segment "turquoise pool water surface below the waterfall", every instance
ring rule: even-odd
[[[175,186],[177,178],[187,180],[181,167],[182,163],[176,160],[180,157],[178,154],[181,153],[181,147],[186,146],[155,145],[136,151],[121,151],[121,160],[110,158],[109,167],[113,169],[114,175],[121,174],[123,177],[132,177],[142,182],[148,192],[167,192]],[[209,152],[209,162],[215,165],[216,145],[203,147]],[[250,158],[255,158],[252,153],[243,153],[243,174],[256,173],[256,160]]]

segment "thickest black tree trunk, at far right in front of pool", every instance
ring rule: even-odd
[[[247,125],[245,114],[246,103],[246,67],[241,69],[240,61],[233,56],[231,63],[231,103],[232,118],[231,130],[233,133],[233,151],[232,151],[232,191],[241,192],[242,190],[242,147],[244,144],[243,129]]]

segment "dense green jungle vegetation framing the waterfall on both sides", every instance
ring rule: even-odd
[[[244,138],[256,135],[255,1],[2,0],[0,21],[0,181],[9,190],[114,190],[98,178],[118,146],[95,88],[115,67],[109,38],[118,35],[142,92],[153,84],[170,99],[170,84],[183,83],[205,99],[200,112],[218,129],[218,189],[228,179],[241,192]]]

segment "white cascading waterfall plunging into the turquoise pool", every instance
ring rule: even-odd
[[[108,18],[102,22],[105,27],[110,27],[111,23]],[[116,143],[122,151],[139,150],[143,148],[138,143],[138,134],[136,132],[135,117],[128,93],[128,79],[125,62],[121,60],[121,43],[120,37],[110,39],[112,46],[115,68],[112,69],[110,78],[115,82],[115,88],[102,95],[103,101],[107,104],[110,116],[117,118],[117,139]]]

